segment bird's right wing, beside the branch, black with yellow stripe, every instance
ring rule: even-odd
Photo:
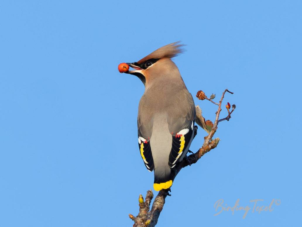
[[[172,148],[169,155],[169,166],[173,168],[188,152],[194,129],[195,105],[192,95],[188,93],[180,101],[180,110],[177,114],[167,113],[167,122],[172,136]],[[185,154],[184,154],[185,152]]]

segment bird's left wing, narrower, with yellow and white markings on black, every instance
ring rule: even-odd
[[[140,118],[137,120],[138,129],[138,146],[140,155],[143,158],[146,168],[151,172],[154,169],[154,161],[150,146],[150,138],[152,135],[153,119],[148,123],[141,123]]]

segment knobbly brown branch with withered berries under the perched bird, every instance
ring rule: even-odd
[[[222,100],[223,100],[226,92],[233,94],[233,92],[230,92],[227,89],[224,90],[222,93],[222,96],[220,98],[219,104],[218,104],[218,103],[215,103],[214,101],[212,101],[211,99],[207,98],[207,96],[204,94],[203,91],[198,91],[196,96],[199,99],[201,99],[201,100],[207,99],[207,100],[211,101],[212,103],[218,105],[214,125],[213,125],[211,131],[209,131],[207,129],[204,117],[202,117],[202,115],[201,115],[201,109],[199,108],[199,106],[196,106],[195,122],[198,123],[204,130],[206,130],[208,132],[208,135],[206,137],[204,137],[204,143],[203,143],[202,147],[196,153],[191,152],[192,153],[191,155],[187,156],[187,158],[184,158],[181,162],[179,162],[172,169],[172,171],[173,171],[172,180],[175,179],[176,175],[179,173],[179,171],[182,168],[196,163],[202,156],[204,156],[205,153],[207,153],[210,150],[217,147],[220,139],[215,138],[212,140],[214,134],[217,131],[217,125],[220,121],[229,120],[231,118],[231,113],[233,113],[234,109],[236,108],[236,106],[233,105],[232,106],[233,110],[231,112],[228,109],[228,116],[223,119],[218,120],[219,114],[221,112]],[[197,134],[197,126],[194,127],[194,137],[196,136],[196,134]],[[170,189],[162,189],[159,191],[158,195],[155,197],[155,199],[153,201],[153,205],[152,205],[152,208],[150,211],[149,211],[149,207],[150,207],[151,199],[153,198],[153,192],[151,190],[147,191],[145,202],[143,202],[143,198],[140,195],[140,198],[139,198],[140,212],[139,212],[139,214],[137,215],[137,217],[134,217],[133,215],[129,215],[129,217],[134,221],[133,226],[136,226],[136,227],[143,227],[143,226],[153,227],[153,226],[155,226],[157,224],[160,212],[162,211],[163,206],[165,204],[165,198],[170,195],[169,190]]]

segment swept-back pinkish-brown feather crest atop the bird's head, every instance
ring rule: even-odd
[[[161,58],[174,58],[178,54],[181,54],[184,52],[182,47],[185,46],[184,44],[180,44],[180,41],[175,43],[170,43],[168,45],[165,45],[156,51],[153,51],[151,54],[147,55],[146,57],[140,59],[138,61],[138,64],[141,64],[149,59],[161,59]]]

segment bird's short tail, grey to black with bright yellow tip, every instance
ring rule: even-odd
[[[172,186],[172,183],[171,169],[168,165],[154,168],[154,190],[168,189]]]

